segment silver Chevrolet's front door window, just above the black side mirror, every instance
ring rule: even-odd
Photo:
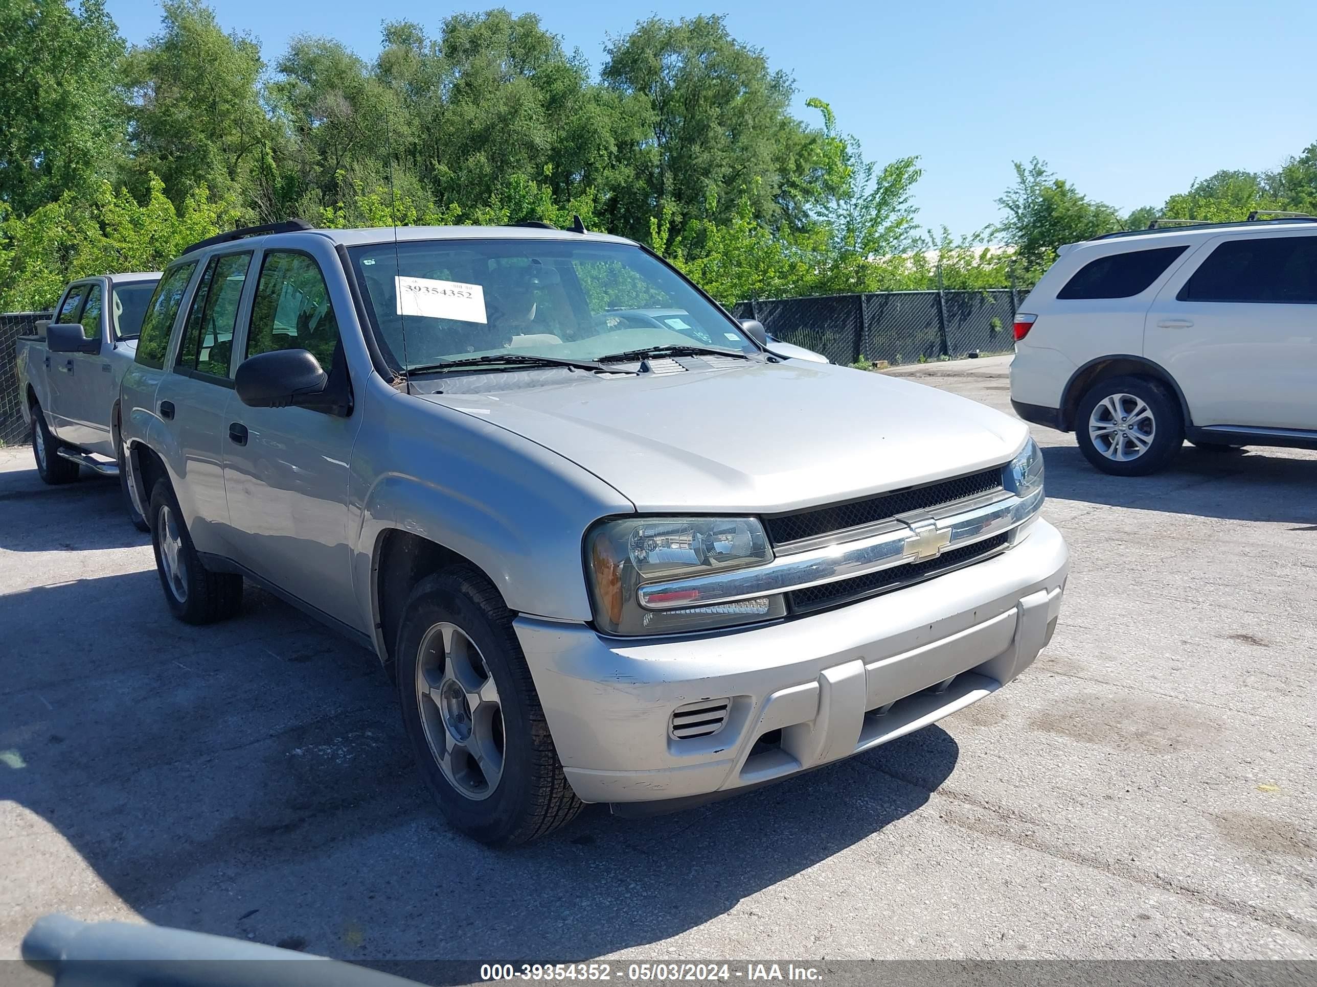
[[[275,250],[265,255],[252,303],[246,357],[270,350],[309,350],[332,370],[338,320],[320,267],[307,254]]]

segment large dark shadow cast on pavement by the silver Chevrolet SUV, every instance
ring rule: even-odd
[[[90,866],[153,923],[356,962],[587,959],[752,915],[747,899],[770,888],[801,894],[794,878],[918,811],[959,757],[931,726],[680,815],[589,807],[495,851],[453,833],[421,791],[374,657],[269,595],[249,587],[244,615],[211,628],[174,621],[150,570],[0,600],[13,615],[0,787],[38,817],[24,832],[53,830],[47,853],[67,841],[86,862],[71,858],[72,891],[40,855],[18,873],[38,912],[53,911],[47,894],[84,900]],[[88,611],[103,617],[95,637],[66,616]]]

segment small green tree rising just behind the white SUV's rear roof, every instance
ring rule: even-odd
[[[1025,270],[1046,268],[1056,247],[1121,229],[1121,217],[1105,203],[1081,195],[1038,158],[1014,162],[1015,184],[997,200],[1006,212],[998,228],[1015,247]]]

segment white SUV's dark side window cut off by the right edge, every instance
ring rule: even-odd
[[[1317,237],[1220,243],[1180,288],[1179,299],[1317,304]]]

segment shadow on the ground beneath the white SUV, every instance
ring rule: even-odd
[[[1168,468],[1151,476],[1100,472],[1073,445],[1050,446],[1043,458],[1048,497],[1235,521],[1317,524],[1313,458],[1270,449],[1209,453],[1185,446]]]

